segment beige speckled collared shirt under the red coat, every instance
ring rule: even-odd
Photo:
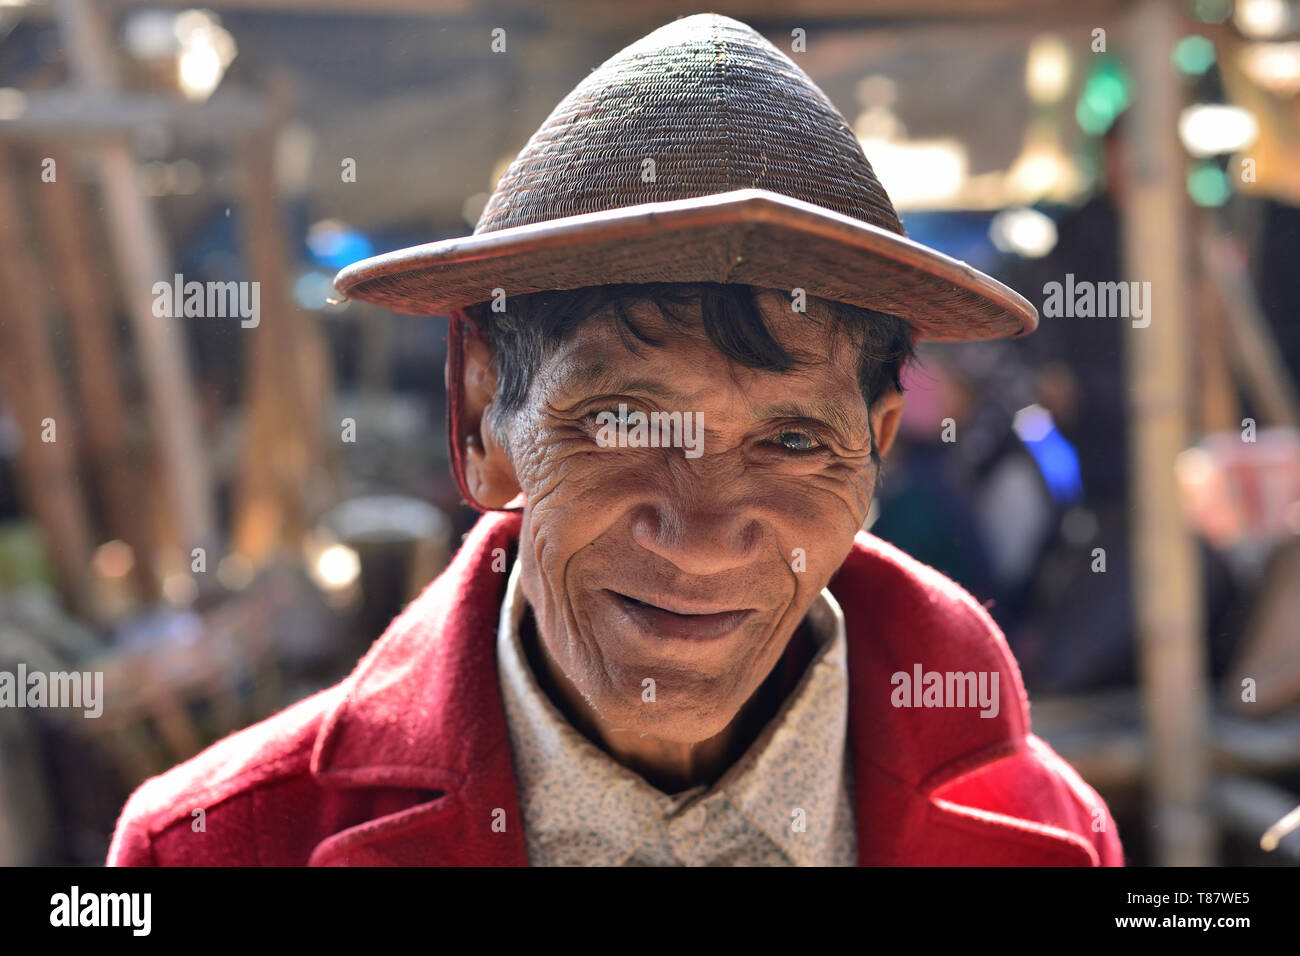
[[[668,795],[573,728],[541,689],[519,626],[519,562],[497,633],[498,672],[533,866],[853,866],[848,639],[823,589],[818,650],[745,754],[712,786]]]

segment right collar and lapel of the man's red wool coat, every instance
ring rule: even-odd
[[[1028,748],[1028,697],[997,624],[953,581],[861,532],[831,581],[849,635],[849,732],[863,866],[1095,865],[1076,834],[945,800]],[[998,710],[894,706],[893,675],[984,671]]]

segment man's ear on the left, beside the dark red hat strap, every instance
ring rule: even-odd
[[[519,494],[519,480],[506,446],[491,425],[497,403],[497,365],[491,360],[491,347],[471,330],[462,336],[460,345],[460,437],[464,442],[465,485],[484,507],[504,507]],[[450,360],[447,373],[451,373]]]

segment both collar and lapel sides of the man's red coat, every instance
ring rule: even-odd
[[[428,800],[335,834],[313,864],[526,865],[494,640],[520,525],[517,512],[484,515],[347,679],[318,732],[313,775],[330,788],[413,788]],[[970,862],[996,851],[1041,864],[1044,849],[1088,862],[1072,834],[939,799],[958,777],[1027,747],[1020,676],[987,613],[866,532],[831,591],[849,633],[859,862]],[[963,640],[954,627],[966,628]],[[915,663],[998,674],[998,714],[894,708],[890,675]],[[916,858],[918,845],[935,858]]]

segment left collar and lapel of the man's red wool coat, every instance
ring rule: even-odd
[[[348,678],[312,773],[325,787],[424,799],[330,836],[313,865],[528,864],[495,644],[520,520],[481,518]]]

